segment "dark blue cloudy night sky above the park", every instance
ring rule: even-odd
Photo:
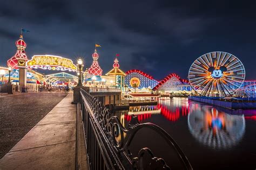
[[[187,78],[198,57],[225,51],[241,60],[247,80],[256,79],[255,9],[256,1],[1,1],[0,65],[15,54],[24,28],[29,58],[82,57],[90,67],[97,43],[104,73],[119,53],[123,71],[161,80]]]

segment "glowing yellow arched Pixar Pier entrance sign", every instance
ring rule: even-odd
[[[77,66],[73,64],[72,60],[52,55],[33,56],[31,60],[26,62],[26,65],[31,69],[77,71]]]

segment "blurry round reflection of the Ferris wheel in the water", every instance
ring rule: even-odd
[[[212,148],[236,145],[245,132],[244,115],[232,115],[211,106],[193,104],[187,118],[191,134]]]

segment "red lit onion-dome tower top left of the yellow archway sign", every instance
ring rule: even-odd
[[[17,58],[24,58],[26,61],[28,61],[28,57],[26,56],[26,52],[25,52],[26,43],[24,42],[22,35],[16,41],[16,46],[17,46],[16,54],[7,61],[8,67],[11,67],[12,69],[18,69]]]

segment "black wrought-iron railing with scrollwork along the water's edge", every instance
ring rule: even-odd
[[[95,97],[83,89],[80,89],[80,95],[80,112],[90,169],[170,169],[170,165],[166,165],[164,159],[155,157],[150,148],[140,149],[137,157],[131,153],[131,142],[142,128],[150,128],[160,134],[178,155],[183,169],[192,169],[177,142],[159,126],[152,123],[141,124],[133,116],[125,128],[119,118],[111,117],[110,110],[103,107]],[[124,134],[127,135],[126,140]]]

